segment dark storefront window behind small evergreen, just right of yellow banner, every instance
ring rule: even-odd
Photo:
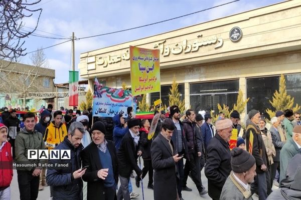
[[[172,85],[161,86],[161,100],[162,100],[163,105],[166,105],[166,106],[169,106],[168,94],[171,92],[170,88],[172,88]],[[180,98],[181,98],[181,100],[183,100],[185,98],[184,84],[179,84],[178,89],[180,92]],[[154,101],[159,98],[160,98],[160,92],[150,93],[150,105],[153,105]]]

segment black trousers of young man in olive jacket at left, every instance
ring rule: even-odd
[[[31,171],[17,170],[21,200],[36,200],[39,193],[40,176],[33,176]]]

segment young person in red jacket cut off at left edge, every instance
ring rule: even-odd
[[[10,184],[13,179],[12,146],[7,141],[8,127],[0,123],[0,199],[11,199]]]

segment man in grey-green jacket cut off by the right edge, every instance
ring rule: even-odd
[[[286,141],[280,151],[280,178],[285,178],[286,167],[290,159],[297,153],[300,153],[301,148],[301,125],[297,125],[292,129],[292,138]]]

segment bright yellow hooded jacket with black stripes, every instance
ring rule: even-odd
[[[64,137],[68,134],[66,125],[61,123],[59,127],[55,126],[52,121],[46,128],[44,141],[48,149],[54,149],[59,143],[64,140]]]

